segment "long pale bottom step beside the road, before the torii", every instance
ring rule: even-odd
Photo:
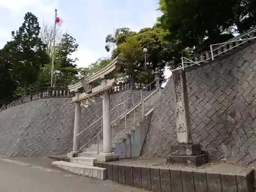
[[[98,178],[101,180],[107,179],[108,169],[106,168],[70,163],[66,161],[54,161],[52,162],[52,165],[68,170],[74,174]]]

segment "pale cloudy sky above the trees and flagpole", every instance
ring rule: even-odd
[[[54,9],[63,19],[61,30],[77,39],[78,67],[86,67],[99,57],[109,56],[104,49],[105,36],[114,28],[129,27],[138,31],[152,27],[160,15],[158,0],[0,0],[0,46],[11,39],[23,23],[26,12],[34,13],[40,26],[54,24]]]

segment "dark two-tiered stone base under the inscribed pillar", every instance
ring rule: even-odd
[[[208,162],[208,154],[201,150],[200,144],[177,144],[171,146],[166,162],[185,166],[200,166]]]

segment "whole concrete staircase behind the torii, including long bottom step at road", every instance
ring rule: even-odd
[[[144,116],[142,116],[142,104],[137,104],[125,118],[120,118],[112,124],[112,147],[113,152],[119,155],[120,159],[139,157],[148,126],[150,124],[155,101],[159,98],[159,92],[155,91],[151,97],[144,102]],[[143,117],[143,118],[142,118]],[[130,126],[129,126],[130,125]],[[94,166],[98,152],[103,148],[102,134],[99,135],[99,144],[95,142],[88,144],[86,148],[78,153],[78,157],[71,157],[70,162],[55,161],[52,164],[66,169],[74,174],[89,176],[98,179],[106,179],[107,169]]]

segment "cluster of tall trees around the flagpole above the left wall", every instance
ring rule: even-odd
[[[34,92],[41,86],[50,86],[53,39],[56,41],[54,60],[54,82],[73,83],[78,80],[80,69],[77,58],[71,54],[77,51],[76,39],[68,33],[58,36],[52,27],[44,25],[40,30],[37,17],[27,12],[22,26],[12,31],[12,40],[0,50],[0,105],[9,99]]]

